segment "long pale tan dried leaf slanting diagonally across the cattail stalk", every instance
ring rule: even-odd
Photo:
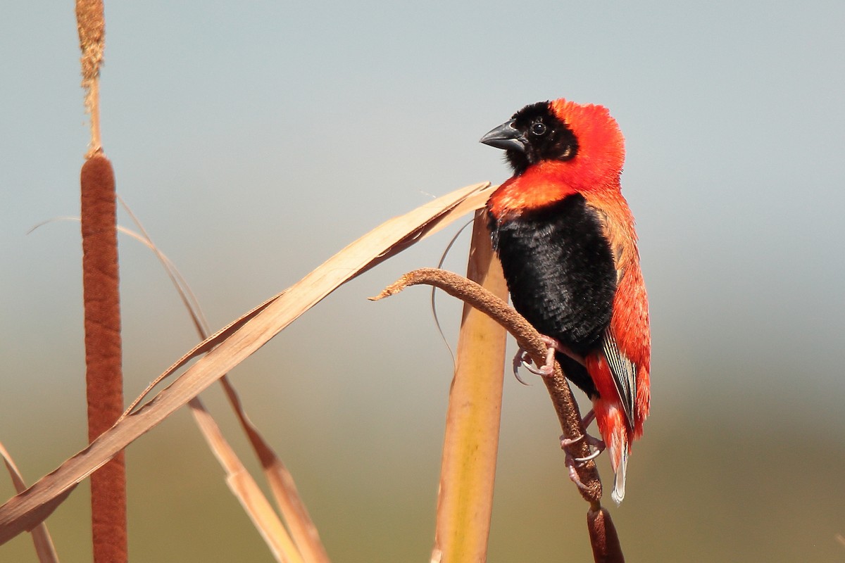
[[[346,246],[288,290],[196,346],[162,375],[171,374],[197,355],[208,354],[150,403],[124,416],[52,474],[0,506],[0,544],[49,516],[59,497],[68,495],[70,489],[96,468],[232,370],[341,284],[449,225],[461,214],[480,208],[492,189],[488,183],[464,187],[390,219]]]

